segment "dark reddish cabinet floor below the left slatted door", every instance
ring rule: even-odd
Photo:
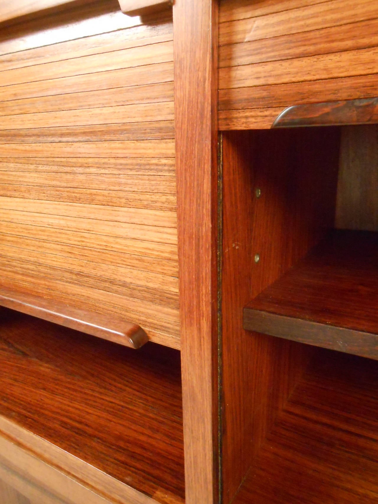
[[[6,308],[0,318],[0,415],[102,471],[88,485],[106,476],[182,504],[179,352],[135,351]]]

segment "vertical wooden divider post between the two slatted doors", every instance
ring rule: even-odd
[[[174,105],[186,504],[218,501],[217,24],[217,0],[175,2]]]

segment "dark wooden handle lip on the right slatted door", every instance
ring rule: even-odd
[[[370,124],[378,121],[378,98],[311,103],[287,107],[272,128]]]

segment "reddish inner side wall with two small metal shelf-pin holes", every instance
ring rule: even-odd
[[[245,299],[274,282],[319,240],[323,226],[332,225],[338,142],[333,129],[223,134],[222,474],[227,504],[308,352],[303,345],[243,330]]]

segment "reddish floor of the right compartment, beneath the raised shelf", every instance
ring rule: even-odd
[[[378,502],[377,408],[375,361],[318,350],[233,503]]]

